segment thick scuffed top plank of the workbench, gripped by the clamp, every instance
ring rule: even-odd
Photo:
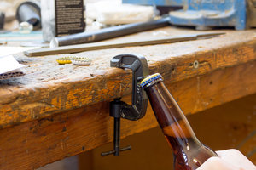
[[[160,72],[166,82],[178,82],[255,60],[256,40],[251,34],[238,31],[196,42],[114,49],[114,54],[144,54],[151,73]],[[27,72],[31,74],[0,83],[0,128],[131,94],[131,71],[109,68],[113,52],[91,54],[105,57],[105,53],[106,59],[90,67],[56,65],[52,56],[29,58],[32,62],[27,63],[32,66]],[[195,61],[199,63],[196,68]]]

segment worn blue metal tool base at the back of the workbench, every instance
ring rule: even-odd
[[[214,26],[244,30],[256,26],[256,0],[123,0],[123,3],[183,6],[183,9],[170,12],[170,23],[195,26],[197,30]]]

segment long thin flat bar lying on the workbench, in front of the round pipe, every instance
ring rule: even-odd
[[[173,42],[184,42],[196,40],[199,37],[213,37],[224,35],[224,33],[205,33],[205,34],[194,34],[194,35],[181,35],[176,37],[158,37],[150,38],[140,41],[132,42],[96,42],[96,43],[85,43],[80,45],[70,45],[58,48],[38,48],[27,50],[24,52],[26,56],[36,57],[44,55],[53,55],[53,54],[71,54],[79,53],[84,51],[98,50],[98,49],[109,49],[109,48],[124,48],[132,46],[146,46],[146,45],[156,45],[163,43],[173,43]]]

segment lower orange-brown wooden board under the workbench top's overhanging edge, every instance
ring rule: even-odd
[[[175,99],[191,114],[256,93],[256,61],[168,83]],[[123,98],[130,100],[130,96]],[[113,120],[108,102],[0,130],[0,169],[33,169],[91,150],[113,140]],[[143,119],[122,120],[122,138],[156,127],[151,108]],[[105,151],[105,150],[102,150]]]

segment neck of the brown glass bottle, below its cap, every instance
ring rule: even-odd
[[[188,148],[192,143],[199,143],[183,111],[161,79],[150,84],[145,90],[154,115],[174,151],[181,147]]]

